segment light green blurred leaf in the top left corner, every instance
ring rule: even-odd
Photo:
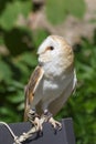
[[[11,30],[15,25],[20,14],[28,16],[31,10],[31,4],[30,0],[24,2],[20,0],[8,2],[4,11],[0,16],[0,25],[6,30]]]

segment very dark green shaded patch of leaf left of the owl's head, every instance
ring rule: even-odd
[[[31,37],[26,29],[17,28],[4,33],[4,43],[12,56],[31,49],[29,45]]]

